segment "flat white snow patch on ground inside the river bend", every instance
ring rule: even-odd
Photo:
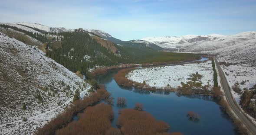
[[[211,61],[202,62],[200,64],[191,63],[175,66],[150,67],[141,68],[131,71],[127,74],[127,78],[139,83],[146,82],[151,87],[171,87],[181,86],[181,82],[187,82],[191,74],[203,75],[201,78],[202,86],[210,84],[213,86],[213,68]],[[155,83],[155,84],[154,84]]]

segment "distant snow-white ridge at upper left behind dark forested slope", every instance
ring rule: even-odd
[[[29,27],[32,27],[32,28],[36,28],[36,29],[46,31],[46,32],[71,32],[71,31],[73,31],[73,29],[66,29],[66,28],[63,28],[63,27],[59,27],[59,28],[49,27],[49,26],[44,26],[42,24],[38,24],[38,23],[19,22],[19,23],[16,23],[16,24],[29,26]]]

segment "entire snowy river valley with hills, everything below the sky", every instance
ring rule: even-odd
[[[98,114],[108,123],[98,127],[100,134],[121,135],[130,132],[121,128],[129,124],[118,119],[128,117],[125,111],[139,117],[137,105],[143,104],[145,119],[167,123],[164,130],[148,129],[150,134],[252,133],[254,125],[247,132],[245,121],[230,115],[234,107],[226,109],[222,101],[255,118],[255,38],[256,32],[243,32],[122,41],[95,29],[0,23],[0,132],[68,135],[75,124],[88,122],[85,112],[107,110],[108,120]],[[120,97],[124,106],[117,105]],[[232,98],[237,104],[230,103]],[[134,108],[139,112],[129,110]],[[191,111],[200,115],[198,121],[189,117]],[[96,119],[93,113],[90,119]],[[82,130],[87,126],[93,129],[85,124],[81,132],[91,132]]]

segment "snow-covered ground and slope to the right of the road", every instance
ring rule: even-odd
[[[243,93],[244,88],[251,88],[256,84],[256,39],[247,40],[214,51],[208,51],[207,53],[217,55],[219,62],[230,64],[222,64],[221,67],[223,72],[226,72],[226,78],[228,79],[233,96],[237,103],[239,103],[240,95],[233,91],[232,86],[238,82],[242,90],[241,93]],[[245,84],[241,84],[243,81]]]

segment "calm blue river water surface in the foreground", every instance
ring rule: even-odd
[[[144,90],[128,89],[118,86],[113,76],[118,70],[108,71],[99,75],[98,84],[105,84],[106,90],[115,98],[125,97],[127,106],[134,108],[135,103],[143,103],[144,110],[151,113],[157,120],[167,122],[171,128],[168,132],[182,132],[184,135],[238,135],[231,119],[221,111],[220,106],[211,96],[180,96],[176,93],[161,93]],[[118,110],[122,108],[113,105],[115,118],[112,126],[116,127]],[[189,121],[187,111],[198,113],[199,122]]]

